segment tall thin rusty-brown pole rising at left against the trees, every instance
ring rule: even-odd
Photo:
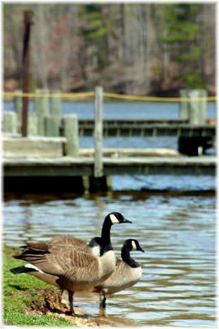
[[[29,80],[29,39],[30,27],[34,12],[25,10],[24,12],[24,35],[23,35],[23,93],[28,93]],[[23,112],[22,112],[22,136],[27,136],[27,116],[28,116],[28,97],[23,97]]]

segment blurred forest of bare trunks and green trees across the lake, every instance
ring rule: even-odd
[[[31,26],[29,91],[215,95],[216,3],[3,3],[3,88],[22,87],[23,11]]]

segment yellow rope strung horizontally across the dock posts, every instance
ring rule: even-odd
[[[61,98],[78,98],[78,97],[93,97],[95,95],[94,91],[90,91],[87,93],[22,93],[20,91],[17,92],[8,92],[8,91],[3,91],[3,96],[20,96],[20,97],[61,97]],[[211,97],[194,97],[194,98],[189,98],[189,97],[151,97],[151,96],[135,96],[135,95],[119,95],[119,94],[114,94],[114,93],[105,93],[103,92],[104,97],[110,97],[110,98],[116,98],[116,99],[127,99],[127,100],[132,100],[132,101],[216,101],[217,97],[216,96],[211,96]]]

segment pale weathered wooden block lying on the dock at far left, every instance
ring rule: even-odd
[[[62,157],[66,138],[3,138],[4,158]]]

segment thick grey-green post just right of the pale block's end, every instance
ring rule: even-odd
[[[67,156],[78,156],[78,120],[76,114],[65,115],[63,119],[64,136],[67,138]]]

